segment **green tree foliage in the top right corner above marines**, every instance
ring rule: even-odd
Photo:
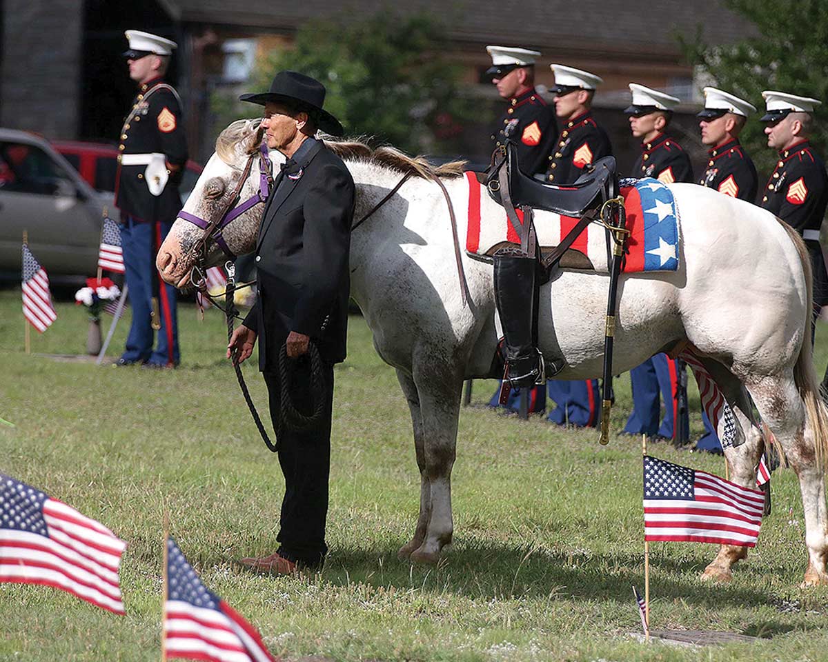
[[[728,45],[683,41],[687,58],[715,79],[715,86],[747,99],[764,114],[762,91],[776,89],[818,98],[811,142],[823,156],[828,148],[828,2],[826,0],[724,0],[747,18],[756,34]],[[758,117],[761,117],[759,115]],[[753,160],[770,170],[776,154],[764,125],[749,119],[741,135]]]

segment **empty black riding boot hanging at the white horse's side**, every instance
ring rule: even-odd
[[[506,377],[514,388],[546,380],[543,357],[534,337],[537,287],[537,261],[533,257],[494,256],[494,300],[505,337]],[[561,367],[556,366],[554,372]]]

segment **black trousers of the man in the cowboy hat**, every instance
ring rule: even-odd
[[[277,539],[279,553],[286,559],[318,565],[328,553],[325,519],[328,515],[330,475],[330,416],[334,401],[334,366],[323,362],[325,411],[316,429],[308,432],[282,430],[279,435],[279,464],[285,477],[285,497]],[[278,429],[281,381],[276,373],[264,372],[270,396],[270,416]],[[291,398],[296,409],[310,415],[310,362],[302,359],[291,376]]]

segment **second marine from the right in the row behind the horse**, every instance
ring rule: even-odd
[[[704,93],[705,107],[696,117],[700,120],[701,142],[710,146],[710,150],[707,152],[707,168],[699,184],[753,203],[758,177],[753,161],[739,143],[739,133],[749,114],[756,113],[756,108],[743,98],[720,89],[706,87]],[[696,450],[722,453],[719,436],[704,409],[701,410],[701,420],[705,434],[696,442]]]

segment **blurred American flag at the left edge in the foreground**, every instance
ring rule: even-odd
[[[0,582],[53,586],[123,616],[126,546],[75,508],[0,474]]]

